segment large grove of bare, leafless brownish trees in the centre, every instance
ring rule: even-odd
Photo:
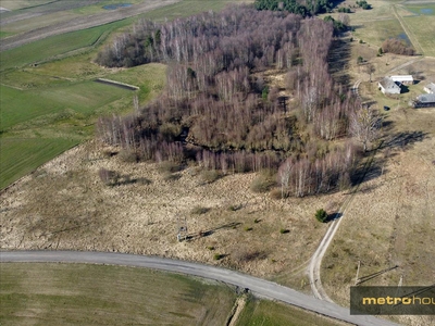
[[[348,185],[346,137],[358,100],[327,71],[332,23],[249,5],[167,23],[140,21],[97,59],[105,66],[164,62],[163,93],[130,116],[105,116],[98,135],[136,160],[196,161],[224,172],[278,171],[286,193]],[[286,93],[264,72],[285,74]]]

